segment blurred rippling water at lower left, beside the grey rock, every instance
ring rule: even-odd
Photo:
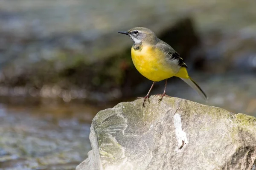
[[[90,148],[90,121],[97,110],[84,105],[0,105],[0,170],[74,170]]]

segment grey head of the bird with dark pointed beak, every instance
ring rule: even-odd
[[[157,40],[157,36],[148,28],[144,27],[135,27],[131,28],[128,31],[118,32],[120,34],[126,34],[133,40],[134,44],[140,44],[145,41],[155,41]]]

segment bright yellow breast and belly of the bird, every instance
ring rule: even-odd
[[[140,74],[154,82],[173,77],[179,71],[178,67],[172,68],[162,51],[150,46],[143,45],[141,50],[131,48],[131,58]]]

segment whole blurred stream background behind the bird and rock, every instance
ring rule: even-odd
[[[169,96],[256,116],[255,9],[255,0],[0,0],[0,170],[73,170],[87,158],[96,113],[151,86],[117,33],[136,26],[180,53],[209,102],[177,78]]]

